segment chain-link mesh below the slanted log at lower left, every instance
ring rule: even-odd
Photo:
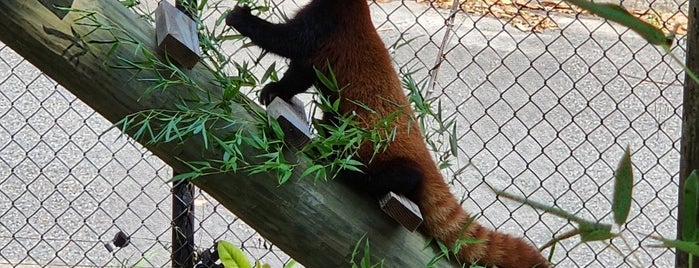
[[[172,170],[10,48],[0,59],[0,266],[168,265]],[[211,197],[194,202],[197,246],[288,261]],[[119,231],[130,244],[111,254]]]

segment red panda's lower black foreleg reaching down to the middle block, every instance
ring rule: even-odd
[[[274,97],[289,100],[296,94],[306,91],[315,81],[315,72],[310,64],[291,60],[289,69],[282,79],[265,85],[260,92],[260,103],[267,105]]]

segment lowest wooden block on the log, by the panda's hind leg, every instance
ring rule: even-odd
[[[389,192],[379,200],[379,204],[381,210],[411,232],[415,231],[422,223],[420,208],[405,196]]]

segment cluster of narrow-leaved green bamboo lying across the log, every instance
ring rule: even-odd
[[[124,3],[138,11],[139,6],[134,3]],[[185,3],[186,4],[186,3]],[[264,12],[266,6],[257,5],[257,1],[245,1],[254,10]],[[262,114],[250,100],[242,96],[243,88],[255,88],[258,85],[278,80],[276,65],[269,66],[264,74],[257,78],[247,62],[233,62],[229,56],[223,53],[222,42],[239,40],[240,36],[228,34],[228,27],[223,23],[225,13],[216,19],[213,25],[202,23],[197,18],[204,15],[204,11],[218,5],[211,1],[201,1],[197,6],[187,6],[186,9],[195,14],[202,60],[199,63],[214,76],[214,89],[218,88],[220,94],[211,91],[211,86],[206,88],[198,85],[188,77],[187,73],[180,70],[168,59],[161,60],[157,53],[149,51],[131,38],[127,31],[112,26],[108,18],[101,17],[98,13],[71,10],[81,12],[83,16],[76,19],[76,25],[92,27],[89,34],[83,36],[87,45],[108,45],[109,53],[105,58],[105,64],[112,68],[135,70],[137,73],[148,73],[153,76],[135,76],[135,79],[145,82],[148,86],[144,94],[152,94],[161,91],[177,89],[184,93],[175,103],[175,109],[158,109],[140,111],[126,116],[115,124],[122,132],[132,133],[136,140],[147,144],[171,144],[180,145],[185,141],[197,138],[207,150],[220,150],[220,159],[202,159],[184,162],[190,168],[188,172],[182,172],[175,180],[195,179],[201,176],[219,172],[245,171],[250,174],[273,172],[280,184],[287,182],[294,174],[294,170],[301,166],[298,160],[312,163],[300,172],[304,177],[328,180],[334,178],[341,170],[361,171],[363,164],[356,160],[357,150],[362,144],[376,144],[375,153],[393,138],[395,129],[391,126],[392,120],[398,118],[400,113],[390,115],[376,126],[361,127],[354,120],[355,115],[343,115],[338,113],[339,101],[330,102],[322,99],[317,103],[320,110],[334,114],[337,121],[332,123],[315,121],[314,125],[319,137],[314,138],[311,144],[302,150],[289,153],[283,143],[284,133],[278,122]],[[151,18],[152,19],[152,18]],[[90,39],[92,33],[106,31],[111,39]],[[241,46],[241,48],[246,45]],[[114,57],[119,49],[133,50],[134,59]],[[260,54],[258,61],[264,54]],[[135,60],[138,58],[138,60]],[[230,69],[236,74],[229,75]],[[151,72],[143,72],[151,71]],[[332,68],[323,73],[317,72],[319,80],[329,89],[342,90],[337,85]],[[219,97],[214,97],[219,96]],[[231,107],[242,106],[254,115],[252,119],[242,119],[236,116]],[[357,103],[360,107],[366,107]],[[226,137],[218,133],[234,131],[233,135]],[[257,152],[243,152],[241,148],[247,146]]]

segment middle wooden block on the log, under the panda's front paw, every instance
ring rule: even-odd
[[[267,114],[277,119],[284,131],[284,142],[293,148],[301,149],[311,141],[311,126],[306,121],[303,102],[298,98],[293,97],[289,102],[274,98],[267,105]]]

